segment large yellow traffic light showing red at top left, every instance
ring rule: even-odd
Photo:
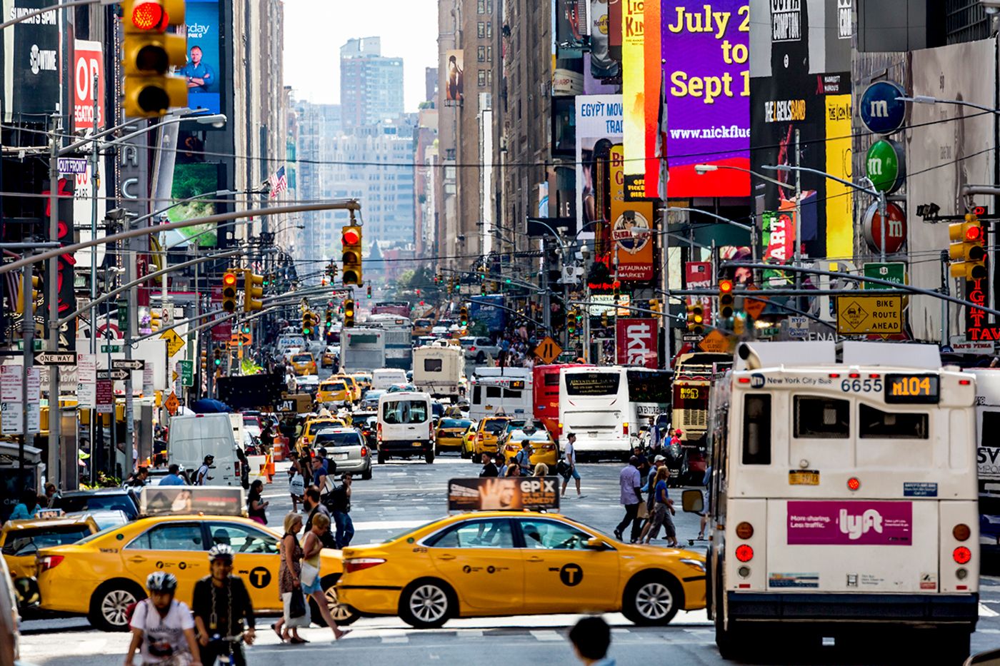
[[[122,6],[122,65],[125,89],[122,106],[130,118],[164,115],[171,107],[187,106],[188,81],[201,78],[167,74],[187,63],[187,38],[167,32],[186,26],[184,0],[125,0]],[[195,65],[196,67],[198,65]],[[204,76],[209,70],[205,68]],[[207,82],[206,82],[207,83]]]

